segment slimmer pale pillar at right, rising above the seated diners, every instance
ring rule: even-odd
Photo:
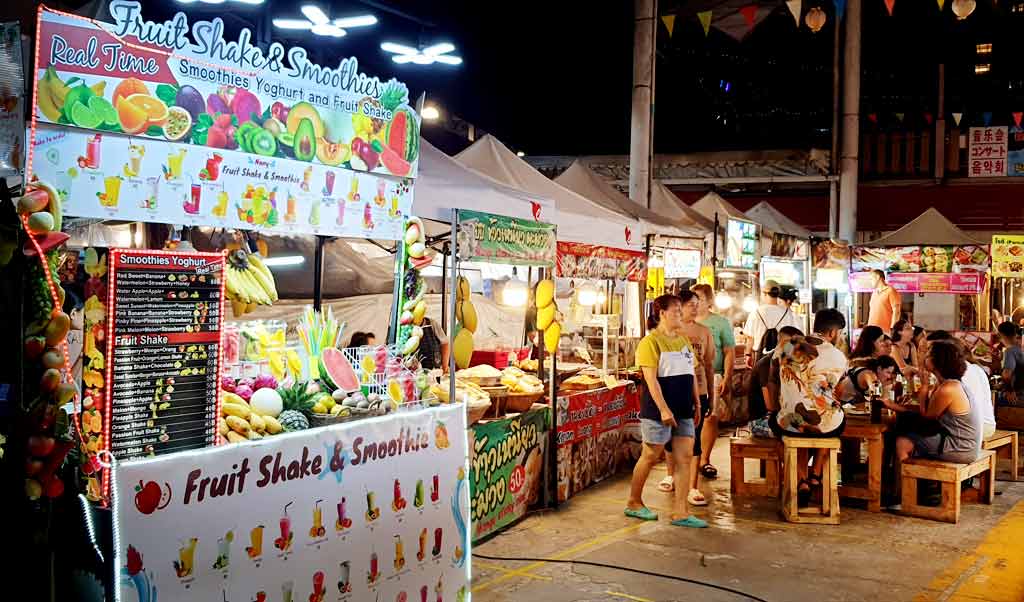
[[[857,235],[857,174],[860,152],[860,0],[846,5],[843,64],[843,150],[840,155],[839,236]]]

